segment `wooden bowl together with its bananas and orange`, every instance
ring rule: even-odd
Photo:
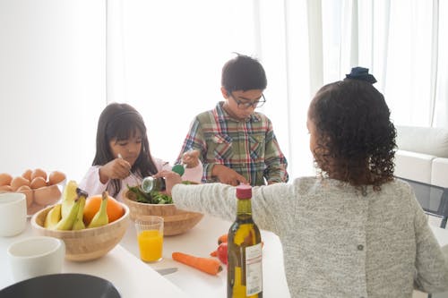
[[[72,182],[66,187],[71,187],[70,185],[73,185]],[[98,199],[95,199],[98,196],[86,198],[86,193],[84,194],[84,197],[78,195],[70,208],[69,204],[62,200],[61,203],[42,209],[31,217],[31,226],[38,234],[64,240],[66,260],[99,259],[121,241],[129,226],[130,212],[125,204],[109,197],[107,192],[103,193],[99,204]],[[103,201],[108,201],[104,208]],[[112,206],[115,214],[111,220],[108,215],[109,206]],[[82,212],[80,209],[83,209]]]

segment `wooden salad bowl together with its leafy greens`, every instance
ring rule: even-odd
[[[139,193],[138,187],[130,187],[123,196],[123,201],[130,209],[130,217],[135,220],[144,216],[163,217],[163,234],[172,236],[183,234],[199,223],[202,213],[177,209],[172,199],[161,193],[152,192],[152,198],[142,198],[144,193]],[[151,202],[152,201],[152,202]]]

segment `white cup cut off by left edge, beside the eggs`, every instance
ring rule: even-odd
[[[0,236],[21,234],[26,224],[26,196],[22,192],[0,193]]]

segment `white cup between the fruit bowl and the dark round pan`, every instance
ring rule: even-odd
[[[9,246],[8,259],[16,282],[61,273],[65,243],[61,239],[47,236],[25,238]]]

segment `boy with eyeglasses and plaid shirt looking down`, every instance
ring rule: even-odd
[[[196,115],[177,158],[192,149],[200,152],[202,183],[286,183],[287,160],[266,115],[255,112],[266,99],[267,80],[262,64],[237,55],[224,64],[220,101]]]

